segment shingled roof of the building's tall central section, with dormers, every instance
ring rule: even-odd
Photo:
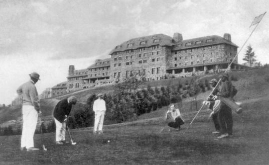
[[[149,47],[152,45],[172,46],[173,38],[164,34],[155,34],[146,37],[133,38],[116,46],[112,51],[110,51],[109,55],[117,51]]]

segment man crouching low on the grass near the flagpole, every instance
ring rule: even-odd
[[[180,130],[180,126],[184,124],[184,120],[182,119],[179,109],[176,109],[174,104],[172,104],[170,108],[171,110],[168,110],[166,113],[166,119],[171,116],[174,121],[169,122],[168,126],[175,128],[175,130]]]

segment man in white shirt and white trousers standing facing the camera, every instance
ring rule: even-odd
[[[94,131],[93,133],[103,133],[103,121],[106,111],[105,101],[102,99],[103,94],[98,94],[98,99],[93,103],[94,118]]]

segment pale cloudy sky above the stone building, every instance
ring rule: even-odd
[[[0,104],[11,104],[34,71],[41,94],[67,80],[69,65],[85,69],[115,46],[154,34],[186,40],[229,33],[242,48],[239,63],[249,44],[257,61],[269,63],[269,14],[249,27],[267,9],[267,0],[0,0]]]

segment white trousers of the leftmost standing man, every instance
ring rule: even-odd
[[[34,106],[23,106],[23,132],[21,147],[34,147],[34,134],[37,127],[38,112]]]

